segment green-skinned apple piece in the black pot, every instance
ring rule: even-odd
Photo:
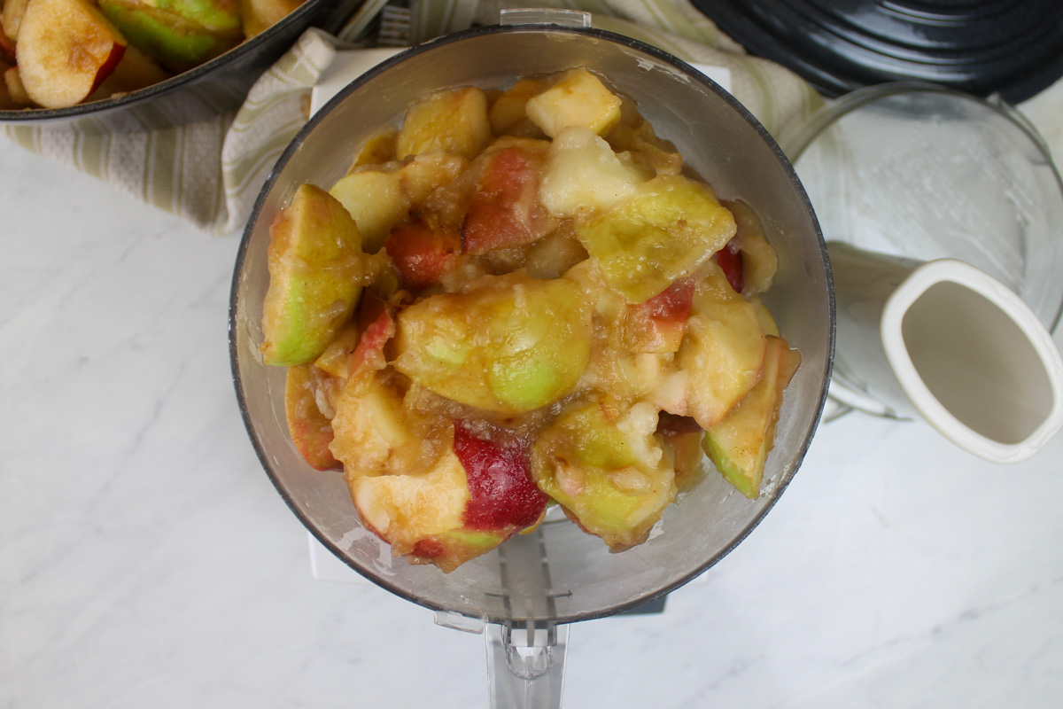
[[[173,71],[185,71],[243,39],[237,0],[100,0],[132,44]]]

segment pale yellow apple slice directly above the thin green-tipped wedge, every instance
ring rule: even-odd
[[[760,378],[766,341],[757,307],[735,292],[723,271],[709,265],[694,290],[676,371],[653,400],[670,413],[714,425]]]

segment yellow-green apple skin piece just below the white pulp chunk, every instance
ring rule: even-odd
[[[576,238],[612,288],[642,303],[708,260],[736,229],[711,188],[660,174],[611,209],[577,222]]]

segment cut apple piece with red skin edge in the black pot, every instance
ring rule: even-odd
[[[30,0],[18,30],[18,72],[45,108],[88,98],[115,70],[125,37],[88,0]]]

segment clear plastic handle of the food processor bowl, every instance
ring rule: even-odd
[[[489,623],[488,692],[491,709],[559,709],[569,626]]]

